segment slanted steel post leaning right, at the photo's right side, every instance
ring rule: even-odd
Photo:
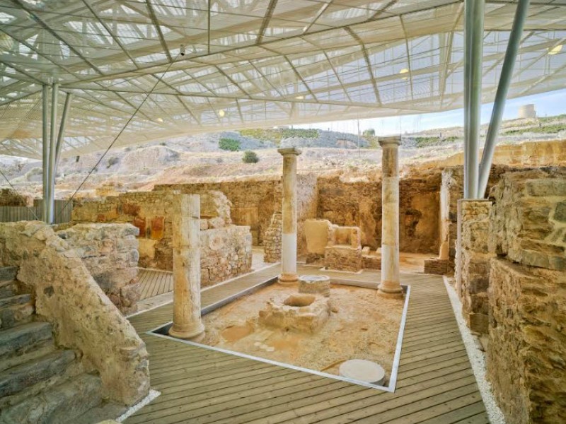
[[[485,136],[485,146],[483,148],[483,156],[480,163],[478,198],[483,198],[483,196],[485,196],[487,181],[490,178],[490,169],[493,160],[493,153],[495,151],[495,144],[497,142],[497,134],[499,134],[499,126],[501,126],[505,102],[507,100],[507,92],[509,91],[509,85],[513,77],[513,69],[517,53],[519,52],[519,45],[521,43],[521,36],[523,34],[523,27],[528,10],[529,0],[519,0],[519,4],[517,4],[517,9],[515,11],[515,18],[513,20],[511,33],[509,34],[507,51],[505,52],[505,58],[503,59],[503,66],[501,69],[501,76],[499,77],[495,102],[493,104],[490,126],[487,129],[487,136]]]

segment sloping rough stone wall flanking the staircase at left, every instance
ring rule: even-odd
[[[145,343],[49,225],[1,223],[0,265],[19,267],[18,281],[33,293],[36,314],[52,324],[57,346],[91,363],[105,398],[133,405],[148,394]]]

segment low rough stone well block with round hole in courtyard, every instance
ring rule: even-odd
[[[330,317],[330,302],[320,295],[294,294],[272,298],[260,311],[259,322],[303,333],[316,333]]]

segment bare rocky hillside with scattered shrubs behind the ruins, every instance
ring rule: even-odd
[[[485,136],[487,126],[483,126]],[[499,145],[524,141],[566,139],[566,115],[540,119],[513,119],[502,124]],[[339,133],[320,129],[248,129],[185,136],[141,146],[111,150],[83,185],[79,196],[96,196],[133,189],[151,189],[154,184],[193,179],[278,175],[281,172],[279,147],[296,146],[304,153],[299,172],[366,174],[379,168],[381,149],[378,138],[366,134]],[[460,127],[421,131],[403,135],[402,166],[437,163],[461,153]],[[243,151],[253,150],[258,163],[243,163]],[[65,158],[57,172],[57,197],[68,196],[79,187],[102,153]],[[41,163],[0,156],[4,175],[16,189],[40,195]],[[430,166],[430,165],[429,165]],[[6,187],[6,181],[0,187]]]

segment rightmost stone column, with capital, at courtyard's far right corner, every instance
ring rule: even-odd
[[[381,156],[381,284],[379,292],[402,295],[399,282],[399,145],[400,136],[379,140]]]

